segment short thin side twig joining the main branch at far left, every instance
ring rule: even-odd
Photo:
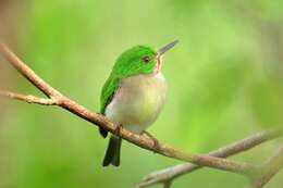
[[[56,105],[57,101],[53,99],[44,99],[44,98],[38,98],[32,95],[25,96],[25,95],[20,95],[11,91],[0,91],[0,97],[5,97],[10,99],[16,99],[20,101],[25,101],[28,103],[36,103],[36,104],[41,104],[41,105]]]

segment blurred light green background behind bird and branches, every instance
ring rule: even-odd
[[[42,78],[94,111],[120,53],[180,39],[164,57],[169,98],[149,131],[183,150],[208,152],[282,125],[282,0],[0,0],[0,36]],[[41,96],[3,59],[0,87]],[[233,159],[259,164],[279,145]],[[0,187],[127,188],[181,163],[124,141],[121,167],[103,168],[106,146],[97,127],[59,108],[2,101]],[[267,187],[282,187],[282,177]],[[172,187],[245,184],[205,168]]]

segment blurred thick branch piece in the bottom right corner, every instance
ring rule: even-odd
[[[260,175],[249,183],[246,188],[262,188],[281,168],[283,168],[283,146],[267,160],[260,167]]]

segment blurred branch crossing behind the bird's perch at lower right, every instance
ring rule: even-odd
[[[244,152],[262,142],[278,138],[280,136],[282,136],[281,130],[270,130],[270,131],[258,133],[248,138],[242,139],[239,141],[227,145],[218,150],[211,151],[208,154],[212,155],[212,156],[218,156],[218,158],[227,158],[227,156]],[[185,163],[185,164],[179,164],[179,165],[175,165],[172,167],[168,167],[168,168],[164,168],[161,171],[157,171],[157,172],[153,172],[153,173],[147,175],[144,178],[144,180],[139,184],[139,187],[143,188],[143,187],[152,186],[158,183],[164,184],[168,181],[172,181],[174,178],[177,178],[179,176],[185,175],[187,173],[192,173],[196,170],[199,170],[200,167],[202,167],[202,166]]]

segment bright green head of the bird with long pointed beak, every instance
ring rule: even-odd
[[[158,51],[147,46],[136,46],[123,52],[113,67],[112,74],[128,77],[139,74],[155,74],[161,71],[163,54],[173,48],[177,40]]]

